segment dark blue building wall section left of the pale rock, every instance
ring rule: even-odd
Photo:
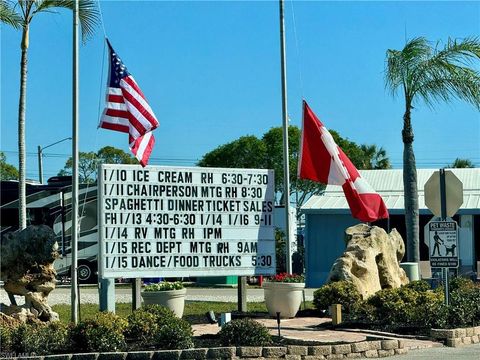
[[[306,215],[306,286],[318,288],[327,280],[333,262],[345,250],[345,229],[358,224],[350,215]]]

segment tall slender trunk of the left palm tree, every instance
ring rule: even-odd
[[[18,226],[27,227],[26,164],[25,164],[25,110],[27,99],[27,51],[29,26],[23,26],[22,59],[20,62],[20,100],[18,103]]]

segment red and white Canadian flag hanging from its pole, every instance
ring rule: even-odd
[[[354,218],[365,222],[388,218],[381,196],[360,176],[306,101],[298,177],[342,186]]]

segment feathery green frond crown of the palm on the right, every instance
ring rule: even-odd
[[[480,41],[449,39],[439,49],[424,38],[413,39],[402,51],[387,51],[386,86],[394,93],[402,85],[407,103],[423,100],[464,100],[480,109]]]

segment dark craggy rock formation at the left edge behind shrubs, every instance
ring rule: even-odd
[[[58,257],[57,249],[55,233],[45,225],[29,226],[2,238],[0,278],[12,301],[11,306],[1,304],[2,312],[22,321],[58,320],[47,303],[48,294],[55,289],[53,262]],[[25,304],[17,306],[13,295],[24,296]]]

